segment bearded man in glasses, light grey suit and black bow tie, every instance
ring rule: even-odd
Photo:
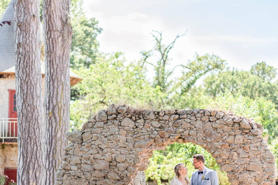
[[[193,172],[191,185],[219,185],[216,172],[204,166],[204,156],[202,154],[195,154],[192,157],[194,169],[198,169],[198,171]]]

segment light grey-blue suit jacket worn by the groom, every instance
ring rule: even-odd
[[[191,185],[197,185],[198,183],[198,171],[193,172],[191,177]],[[200,185],[219,185],[217,173],[214,170],[205,168],[203,175],[205,176],[204,180],[201,180]]]

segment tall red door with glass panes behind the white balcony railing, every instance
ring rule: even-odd
[[[17,98],[15,90],[9,90],[9,118],[17,118]],[[16,119],[9,119],[9,121],[17,121]],[[9,136],[17,137],[17,122],[9,123]]]

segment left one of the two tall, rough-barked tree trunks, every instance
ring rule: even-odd
[[[17,184],[44,184],[39,0],[15,2]],[[1,41],[3,42],[3,41]]]

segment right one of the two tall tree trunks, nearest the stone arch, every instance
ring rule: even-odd
[[[61,164],[61,153],[67,146],[69,131],[69,53],[72,28],[69,18],[70,0],[44,0],[45,30],[45,121],[46,121],[46,178],[54,184],[55,173]]]

